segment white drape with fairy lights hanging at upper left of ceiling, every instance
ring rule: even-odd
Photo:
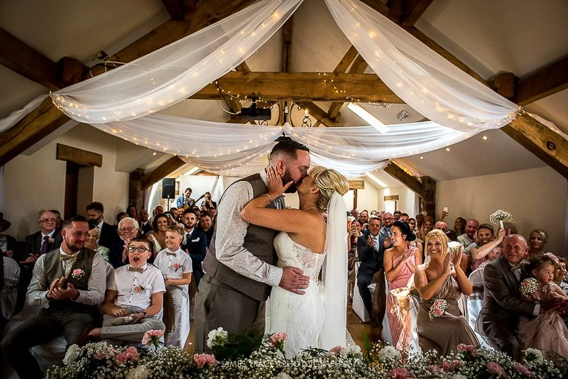
[[[138,119],[190,97],[240,65],[302,0],[263,0],[153,53],[51,94],[84,123]]]

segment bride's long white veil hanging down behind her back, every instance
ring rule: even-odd
[[[325,235],[326,258],[322,274],[324,324],[320,334],[320,347],[326,350],[346,346],[347,326],[347,207],[342,196],[334,192],[327,204]]]

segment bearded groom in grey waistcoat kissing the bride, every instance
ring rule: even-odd
[[[290,138],[281,138],[268,155],[283,183],[293,181],[286,192],[307,176],[310,150]],[[310,277],[299,268],[275,266],[278,257],[273,239],[278,231],[248,224],[241,210],[253,198],[268,192],[266,170],[239,180],[226,189],[217,213],[217,226],[207,256],[205,275],[195,295],[195,351],[207,348],[207,334],[222,327],[229,333],[264,334],[265,302],[271,288],[280,286],[302,295]],[[268,207],[284,207],[273,199]]]

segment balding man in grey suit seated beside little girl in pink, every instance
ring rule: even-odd
[[[484,306],[476,325],[476,330],[487,336],[489,345],[516,360],[522,357],[516,330],[519,316],[536,317],[539,312],[552,312],[562,304],[562,299],[540,304],[520,299],[520,282],[525,278],[521,262],[527,255],[523,236],[511,234],[503,240],[503,255],[484,269]]]

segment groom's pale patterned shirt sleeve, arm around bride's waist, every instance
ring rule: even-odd
[[[263,262],[243,246],[249,223],[241,217],[241,211],[251,199],[253,187],[249,182],[234,183],[224,193],[217,210],[215,256],[236,273],[277,287],[282,268]]]

